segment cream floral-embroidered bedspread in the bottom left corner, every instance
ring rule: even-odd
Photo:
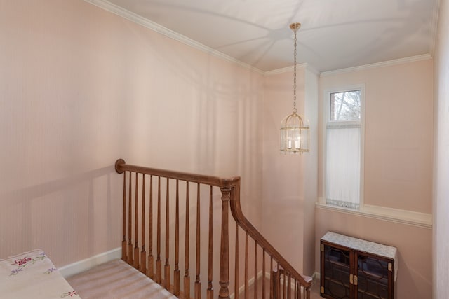
[[[0,260],[0,298],[80,298],[42,250]]]

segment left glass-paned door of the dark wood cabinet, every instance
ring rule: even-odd
[[[344,247],[321,243],[321,296],[324,298],[353,298],[349,282],[353,254]]]

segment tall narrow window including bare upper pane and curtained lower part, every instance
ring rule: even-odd
[[[359,209],[363,88],[326,92],[326,204]]]

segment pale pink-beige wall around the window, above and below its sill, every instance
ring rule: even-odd
[[[321,105],[326,90],[356,84],[365,86],[365,204],[431,214],[432,66],[433,61],[427,59],[354,69],[320,78]],[[320,196],[323,193],[321,167]],[[398,298],[429,298],[431,228],[319,208],[316,210],[317,252],[319,239],[327,231],[396,246]],[[318,255],[316,269],[319,269]]]

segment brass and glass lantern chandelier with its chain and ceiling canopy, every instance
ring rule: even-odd
[[[309,153],[309,121],[296,113],[296,32],[301,23],[290,24],[295,34],[295,52],[293,64],[293,113],[286,116],[281,123],[281,153]]]

